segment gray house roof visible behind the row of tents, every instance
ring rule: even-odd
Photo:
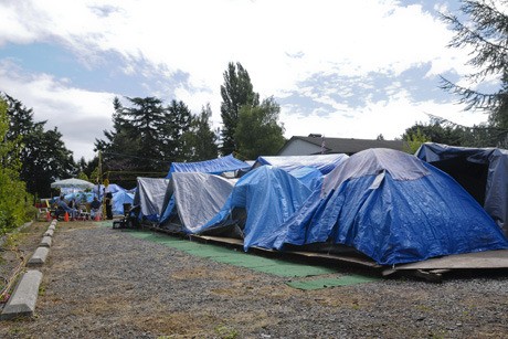
[[[369,140],[369,139],[348,139],[348,138],[322,138],[320,135],[310,135],[308,137],[292,137],[284,147],[278,151],[281,153],[294,140],[303,140],[321,147],[325,141],[325,153],[347,153],[353,155],[369,148],[390,148],[403,150],[404,141],[402,140]]]

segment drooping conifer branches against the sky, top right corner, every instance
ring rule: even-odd
[[[467,75],[472,86],[457,85],[442,77],[442,88],[461,96],[466,109],[483,109],[489,114],[491,126],[508,130],[508,1],[463,0],[461,11],[468,18],[442,14],[444,22],[456,32],[451,47],[472,47],[469,65],[478,71]],[[500,88],[483,93],[474,86],[487,77],[497,77]],[[501,138],[506,137],[500,135]]]

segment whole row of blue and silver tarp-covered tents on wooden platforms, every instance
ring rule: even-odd
[[[245,251],[353,251],[395,265],[508,248],[508,151],[424,144],[415,156],[172,163],[167,178],[138,178],[133,204],[141,222],[242,239]]]

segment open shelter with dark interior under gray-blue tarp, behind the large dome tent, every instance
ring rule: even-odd
[[[457,180],[508,235],[508,150],[426,142],[416,157]]]

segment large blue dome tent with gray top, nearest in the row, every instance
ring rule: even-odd
[[[446,173],[414,156],[369,149],[330,172],[266,247],[343,244],[382,265],[508,248],[500,229]],[[268,246],[269,245],[269,246]]]

